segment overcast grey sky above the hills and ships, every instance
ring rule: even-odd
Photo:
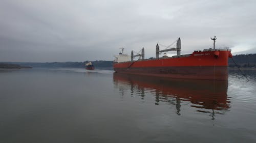
[[[178,37],[185,54],[212,47],[215,35],[217,48],[256,53],[255,8],[255,0],[1,0],[0,61],[112,61],[121,47],[144,47],[150,58]]]

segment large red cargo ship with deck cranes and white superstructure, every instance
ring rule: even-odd
[[[156,45],[156,58],[144,59],[144,48],[141,54],[131,55],[123,54],[115,55],[113,68],[117,73],[130,73],[140,75],[151,75],[170,78],[189,78],[189,79],[213,79],[227,80],[228,78],[228,58],[232,57],[231,49],[216,49],[216,37],[214,40],[214,48],[194,51],[191,54],[180,54],[181,41],[177,39],[176,48],[159,50]],[[175,50],[177,55],[168,57],[164,55],[159,58],[160,52]],[[138,61],[133,59],[139,56]]]

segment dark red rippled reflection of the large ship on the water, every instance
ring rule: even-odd
[[[227,80],[166,79],[121,73],[114,73],[113,79],[119,88],[129,86],[132,94],[138,90],[142,99],[145,91],[154,92],[156,105],[160,102],[176,105],[178,114],[181,101],[191,102],[191,107],[201,109],[226,110],[229,108]],[[197,111],[208,112],[200,109]]]

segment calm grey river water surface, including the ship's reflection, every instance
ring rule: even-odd
[[[256,142],[256,71],[228,81],[0,70],[0,142]]]

